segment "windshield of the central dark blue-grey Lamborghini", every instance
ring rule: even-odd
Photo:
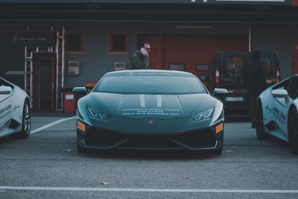
[[[93,92],[184,95],[207,90],[192,74],[123,72],[105,75]]]

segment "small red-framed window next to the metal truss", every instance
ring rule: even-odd
[[[65,52],[83,53],[84,34],[82,32],[69,32],[65,34]]]

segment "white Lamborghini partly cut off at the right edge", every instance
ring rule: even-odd
[[[289,143],[291,152],[298,154],[298,74],[264,90],[257,99],[259,139],[272,135]]]

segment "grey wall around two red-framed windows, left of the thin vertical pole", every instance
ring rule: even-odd
[[[212,26],[212,28],[176,28],[178,25]],[[66,86],[83,86],[87,81],[98,81],[106,72],[114,70],[115,62],[125,62],[129,68],[131,55],[136,51],[138,34],[248,36],[249,25],[215,23],[185,24],[178,22],[72,22],[65,30],[66,32],[84,32],[84,52],[65,53],[64,83]],[[110,32],[129,32],[129,53],[109,53]],[[69,76],[67,74],[68,61],[80,61],[79,76]]]

